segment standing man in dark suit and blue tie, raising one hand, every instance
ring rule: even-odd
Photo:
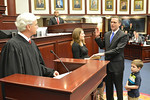
[[[119,29],[120,25],[121,19],[117,16],[112,17],[111,31],[104,34],[103,40],[96,31],[95,41],[100,48],[105,48],[105,52],[93,56],[105,56],[105,60],[110,61],[107,65],[107,76],[104,79],[107,100],[114,100],[113,85],[116,87],[117,100],[123,100],[124,48],[127,44],[127,35]]]

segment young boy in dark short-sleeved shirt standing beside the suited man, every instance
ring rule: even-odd
[[[143,62],[140,59],[135,59],[131,62],[130,77],[126,83],[126,90],[128,91],[128,100],[138,100],[140,93],[139,88],[141,85],[140,70],[143,67]]]

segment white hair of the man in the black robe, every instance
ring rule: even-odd
[[[26,26],[32,24],[33,21],[36,21],[37,17],[32,13],[23,13],[20,14],[15,22],[15,25],[19,32],[25,31]]]

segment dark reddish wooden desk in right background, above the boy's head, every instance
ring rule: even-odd
[[[143,62],[150,62],[150,46],[127,44],[124,55],[126,59],[141,59]]]

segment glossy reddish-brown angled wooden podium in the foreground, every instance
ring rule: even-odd
[[[109,61],[61,58],[72,71],[61,79],[14,74],[0,79],[11,100],[93,100],[92,92],[106,76]],[[66,70],[55,60],[60,73]]]

